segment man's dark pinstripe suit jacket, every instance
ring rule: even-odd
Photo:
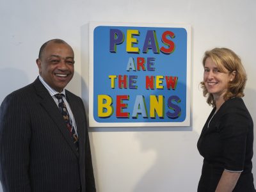
[[[96,191],[83,101],[66,90],[76,120],[79,153],[44,85],[8,95],[0,108],[0,179],[3,191]]]

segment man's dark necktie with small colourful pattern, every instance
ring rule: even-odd
[[[63,100],[63,97],[65,97],[64,94],[58,93],[54,95],[58,99],[58,106],[61,112],[61,115],[63,116],[63,119],[65,120],[65,123],[67,124],[68,131],[70,132],[70,136],[73,139],[73,142],[76,146],[76,150],[78,151],[78,137],[75,131],[74,126],[72,125],[72,120],[70,119],[70,116],[68,115],[68,110],[66,107],[66,104]]]

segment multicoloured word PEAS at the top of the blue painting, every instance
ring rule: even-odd
[[[134,44],[140,44],[138,38],[134,36],[140,36],[140,31],[137,29],[127,29],[126,31],[126,52],[140,53],[140,48],[135,47]],[[175,34],[172,31],[164,31],[161,36],[161,42],[165,45],[159,48],[159,42],[157,40],[157,34],[155,30],[148,30],[143,43],[142,52],[147,53],[148,49],[151,49],[155,54],[159,54],[160,51],[164,54],[171,54],[175,49],[175,44],[172,39],[175,38]],[[109,51],[116,52],[116,45],[124,43],[125,35],[120,29],[110,29],[109,31]]]

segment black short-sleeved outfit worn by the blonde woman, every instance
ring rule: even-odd
[[[241,172],[234,191],[255,191],[252,175],[253,121],[243,99],[212,109],[197,143],[204,157],[198,192],[215,191],[224,170]]]

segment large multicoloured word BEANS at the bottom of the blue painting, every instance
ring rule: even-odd
[[[115,113],[116,118],[130,118],[129,106],[124,100],[129,100],[129,95],[116,95],[115,109],[113,107],[113,98],[109,95],[98,95],[98,116],[99,118],[109,118]],[[136,95],[134,106],[132,109],[132,118],[136,119],[139,115],[143,118],[178,118],[181,115],[181,109],[178,105],[180,99],[176,95],[172,95],[167,99],[167,107],[170,111],[164,112],[164,96],[150,95],[149,106],[146,105],[143,95]],[[149,115],[148,115],[149,108]]]

